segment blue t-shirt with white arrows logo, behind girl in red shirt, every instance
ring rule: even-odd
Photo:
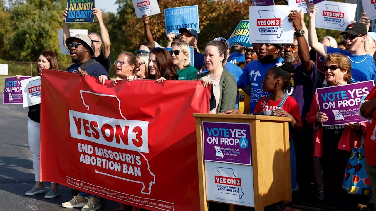
[[[253,113],[257,102],[268,94],[261,87],[261,81],[265,78],[266,72],[277,63],[283,62],[282,57],[277,57],[273,62],[263,64],[259,60],[248,63],[243,69],[243,74],[239,78],[238,86],[243,88],[251,84],[251,96],[249,102],[249,111]]]

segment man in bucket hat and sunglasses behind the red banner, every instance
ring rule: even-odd
[[[82,69],[82,64],[91,60],[91,56],[94,55],[94,50],[92,50],[91,39],[85,35],[76,35],[74,37],[69,37],[65,40],[67,47],[69,48],[72,62],[74,63],[70,67],[68,67],[68,72],[81,72],[79,70]],[[85,69],[82,70],[87,72],[86,74],[94,76],[96,78],[100,78],[101,83],[104,82],[104,79],[107,79],[108,73],[106,69],[99,63],[92,61],[90,65],[85,65]],[[105,75],[106,77],[100,77]],[[102,83],[104,84],[104,83]]]

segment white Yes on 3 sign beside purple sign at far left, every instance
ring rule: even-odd
[[[32,77],[21,81],[23,106],[29,107],[41,103],[41,77]]]

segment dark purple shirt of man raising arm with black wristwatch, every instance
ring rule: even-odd
[[[306,115],[309,112],[312,97],[317,88],[316,66],[314,63],[312,63],[311,75],[306,75],[304,73],[302,69],[302,62],[296,63],[294,67],[295,73],[291,74],[291,83],[293,83],[293,87],[291,87],[288,94],[298,103],[299,113],[302,117],[303,125],[306,125]]]

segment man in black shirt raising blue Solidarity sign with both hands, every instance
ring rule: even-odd
[[[105,24],[103,23],[102,18],[102,11],[95,7],[92,12],[93,15],[97,17],[98,23],[99,23],[99,30],[100,35],[96,32],[89,32],[88,37],[91,39],[91,48],[94,50],[94,54],[91,56],[92,59],[99,62],[107,71],[107,73],[110,72],[110,65],[111,65],[111,42],[110,42],[110,36],[108,34],[107,28]],[[65,17],[68,15],[68,9],[65,9],[65,11],[62,14],[63,17],[63,42],[64,46],[68,49],[67,45],[65,45],[65,40],[70,37],[69,32],[69,23],[65,23]],[[100,50],[100,47],[102,46],[102,51]]]

